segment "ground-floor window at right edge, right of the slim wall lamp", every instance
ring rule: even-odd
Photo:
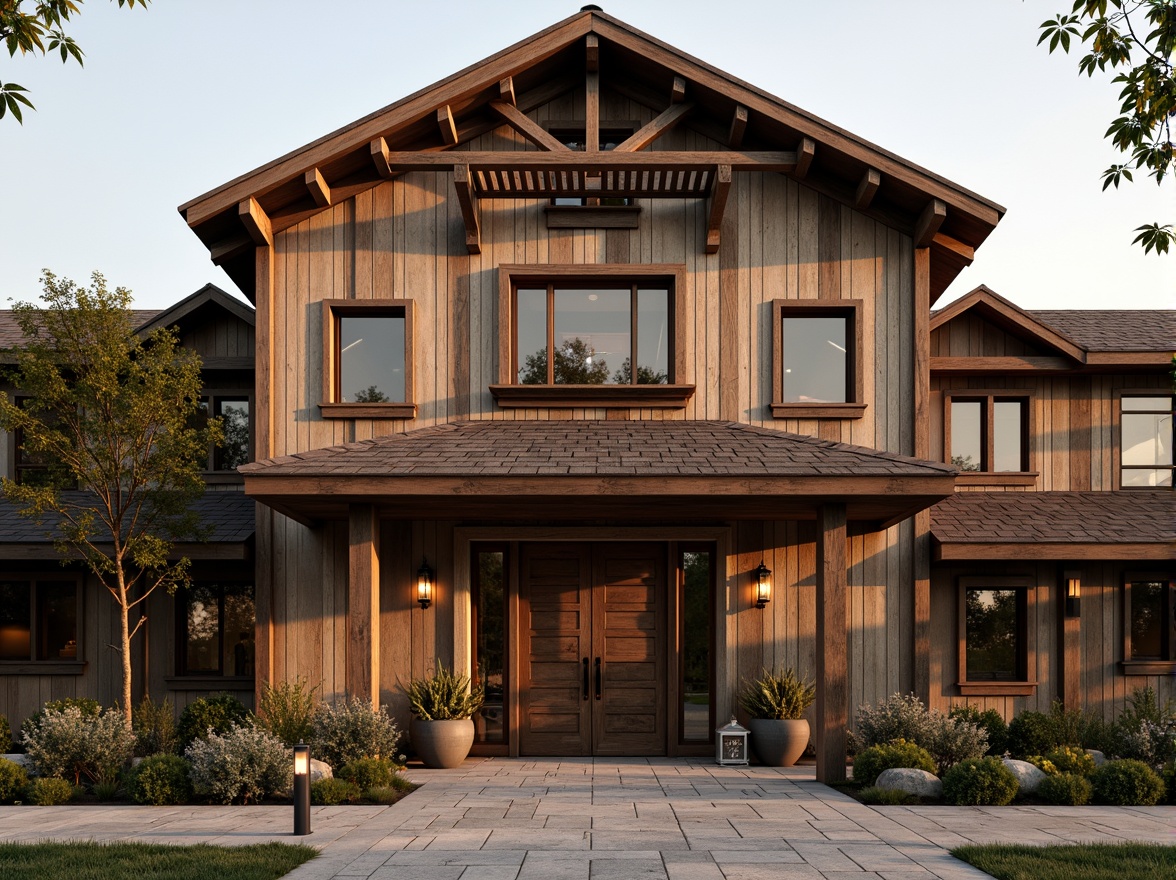
[[[1163,572],[1123,578],[1123,667],[1137,675],[1171,674],[1176,664],[1176,581]]]

